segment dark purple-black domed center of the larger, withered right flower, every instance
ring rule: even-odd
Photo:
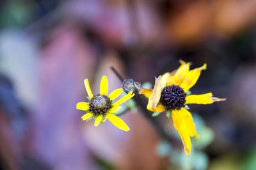
[[[164,87],[161,93],[161,103],[166,110],[179,110],[186,102],[186,93],[179,85]]]

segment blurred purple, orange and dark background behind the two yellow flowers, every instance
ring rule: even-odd
[[[24,0],[0,2],[0,169],[256,169],[255,0]],[[191,105],[201,136],[191,156],[173,130],[164,141],[140,109],[131,131],[83,122],[76,103],[109,69],[147,86],[179,66],[206,62]],[[130,105],[132,105],[130,103]]]

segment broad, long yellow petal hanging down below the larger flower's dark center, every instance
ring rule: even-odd
[[[172,119],[173,126],[179,132],[184,151],[189,155],[192,146],[190,137],[195,136],[196,138],[199,138],[199,135],[196,132],[195,123],[193,122],[193,117],[188,110],[181,108],[180,110],[172,111]]]

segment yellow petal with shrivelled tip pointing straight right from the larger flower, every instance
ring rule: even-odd
[[[186,104],[212,104],[216,101],[225,101],[218,97],[212,97],[212,93],[192,94],[186,97]]]

